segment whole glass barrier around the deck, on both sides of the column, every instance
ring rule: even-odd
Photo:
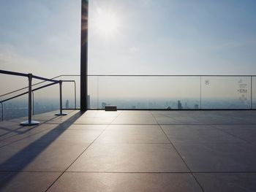
[[[79,109],[80,76],[56,80],[75,81],[62,83],[62,107]],[[255,76],[89,75],[88,81],[89,109],[104,109],[106,105],[116,105],[120,110],[256,109]],[[26,86],[26,78],[23,84]],[[47,84],[34,85],[33,89]],[[25,91],[28,89],[2,96],[1,101]],[[53,110],[59,110],[59,84],[33,92],[34,115]],[[3,111],[6,120],[27,116],[28,96],[4,102]]]

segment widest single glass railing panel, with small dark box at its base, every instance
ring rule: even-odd
[[[99,109],[198,109],[200,77],[99,77]]]

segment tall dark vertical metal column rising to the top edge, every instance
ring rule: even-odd
[[[88,109],[88,0],[81,4],[80,110]]]

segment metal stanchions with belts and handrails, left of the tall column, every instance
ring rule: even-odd
[[[26,88],[29,88],[29,91],[26,91],[24,93],[20,93],[16,96],[12,96],[10,98],[7,98],[7,99],[4,99],[2,101],[0,101],[0,104],[1,104],[1,120],[4,120],[4,106],[3,106],[3,103],[5,101],[9,101],[11,99],[15,99],[15,98],[18,98],[19,96],[23,96],[23,95],[26,95],[29,93],[29,117],[28,117],[28,120],[20,123],[20,125],[23,125],[23,126],[32,126],[32,125],[37,125],[39,122],[38,121],[34,121],[34,120],[31,120],[31,115],[32,115],[32,95],[33,95],[33,115],[34,115],[34,91],[38,91],[42,88],[47,88],[51,85],[55,85],[57,83],[59,83],[59,89],[60,89],[60,112],[56,115],[67,115],[66,113],[62,112],[62,82],[74,82],[74,87],[75,87],[75,108],[76,108],[76,83],[75,83],[75,80],[54,80],[58,77],[61,77],[61,75],[57,76],[57,77],[53,77],[51,79],[48,79],[48,78],[45,78],[45,77],[39,77],[39,76],[36,76],[36,75],[33,75],[33,74],[23,74],[23,73],[20,73],[20,72],[10,72],[10,71],[4,71],[4,70],[0,70],[0,74],[8,74],[8,75],[15,75],[15,76],[20,76],[20,77],[28,77],[29,78],[29,86],[25,87],[25,88],[20,88],[18,90],[15,90],[15,91],[11,91],[9,93],[4,93],[3,95],[1,96],[7,96],[11,93],[16,93],[18,91],[22,91]],[[34,85],[39,85],[40,83],[42,82],[37,82],[36,84],[32,85],[32,79],[38,79],[38,80],[42,80],[42,82],[52,82],[48,85],[42,85],[40,86],[39,88],[34,88],[32,89],[32,86]],[[1,97],[0,96],[0,97]]]

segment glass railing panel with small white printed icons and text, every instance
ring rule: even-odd
[[[250,109],[251,77],[202,77],[202,109]]]

